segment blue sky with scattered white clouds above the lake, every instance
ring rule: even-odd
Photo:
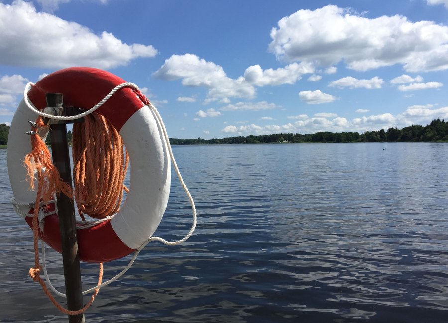
[[[0,0],[0,123],[71,66],[137,84],[171,138],[426,125],[448,120],[448,0]]]

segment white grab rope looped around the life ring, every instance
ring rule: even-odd
[[[26,105],[27,105],[32,111],[34,111],[36,114],[38,114],[38,115],[40,115],[40,116],[42,116],[42,117],[46,117],[46,118],[50,118],[50,119],[57,119],[57,120],[75,120],[75,119],[78,119],[78,118],[82,118],[82,117],[84,117],[84,116],[86,116],[86,115],[88,115],[88,114],[94,112],[94,111],[97,110],[99,107],[101,107],[101,106],[102,106],[102,105],[103,105],[103,104],[104,104],[104,103],[105,103],[105,102],[106,102],[106,101],[107,101],[107,100],[108,100],[108,99],[109,99],[109,98],[110,98],[116,91],[120,90],[120,89],[123,88],[123,87],[130,87],[130,88],[133,88],[133,89],[135,89],[135,90],[138,90],[138,86],[135,85],[134,83],[122,83],[122,84],[116,86],[115,88],[113,88],[112,91],[110,91],[109,94],[106,95],[106,96],[105,96],[105,97],[104,97],[98,104],[96,104],[94,107],[92,107],[91,109],[89,109],[89,110],[87,110],[87,111],[85,111],[85,112],[83,112],[83,113],[80,113],[80,114],[75,115],[75,116],[54,116],[54,115],[51,115],[51,114],[43,113],[43,112],[39,111],[38,109],[36,109],[36,108],[33,106],[33,104],[31,103],[31,101],[30,101],[29,98],[28,98],[28,92],[29,92],[29,90],[30,90],[30,88],[31,88],[32,85],[34,85],[34,84],[33,84],[33,83],[28,83],[28,84],[26,84],[26,86],[25,86],[25,90],[24,90],[24,95],[23,95],[23,96],[24,96],[24,100],[25,100]],[[154,114],[155,114],[155,116],[156,116],[156,121],[157,121],[157,123],[158,123],[160,129],[162,130],[162,135],[163,135],[163,138],[165,139],[165,142],[166,142],[166,144],[167,144],[168,152],[169,152],[169,154],[170,154],[170,158],[171,158],[171,162],[172,162],[172,164],[173,164],[174,170],[175,170],[176,175],[177,175],[177,177],[178,177],[178,179],[179,179],[179,182],[180,182],[182,188],[184,189],[184,191],[185,191],[185,193],[186,193],[186,195],[187,195],[187,197],[188,197],[188,200],[189,200],[189,202],[190,202],[190,205],[191,205],[191,208],[192,208],[192,212],[193,212],[192,226],[191,226],[191,228],[190,228],[190,231],[185,235],[185,237],[182,238],[182,239],[180,239],[180,240],[177,240],[177,241],[170,242],[170,241],[167,241],[167,240],[165,240],[165,239],[163,239],[163,238],[161,238],[161,237],[149,237],[148,240],[147,240],[146,242],[144,242],[138,249],[135,250],[134,255],[132,256],[132,258],[130,259],[129,263],[127,264],[127,266],[125,266],[125,267],[123,268],[122,271],[120,271],[117,275],[115,275],[114,277],[112,277],[112,278],[109,279],[108,281],[103,282],[103,283],[101,283],[101,284],[99,284],[99,285],[97,285],[97,286],[95,286],[95,287],[92,287],[92,288],[87,289],[86,291],[83,292],[83,295],[88,294],[88,293],[94,291],[95,289],[98,289],[98,288],[107,286],[107,285],[109,285],[110,283],[112,283],[112,282],[114,282],[115,280],[117,280],[118,278],[120,278],[122,275],[124,275],[124,274],[126,273],[126,271],[129,270],[129,268],[130,268],[130,267],[132,266],[132,264],[135,262],[135,259],[137,258],[137,256],[138,256],[138,254],[140,253],[140,251],[141,251],[141,250],[142,250],[142,249],[143,249],[149,242],[152,242],[152,241],[160,241],[160,242],[162,242],[162,243],[164,243],[164,244],[166,244],[166,245],[169,245],[169,246],[178,245],[178,244],[181,244],[181,243],[185,242],[188,238],[190,238],[190,236],[191,236],[191,235],[193,234],[193,232],[195,231],[196,223],[197,223],[197,213],[196,213],[195,202],[194,202],[194,200],[193,200],[193,197],[192,197],[191,194],[190,194],[190,191],[189,191],[188,188],[187,188],[187,185],[185,184],[185,182],[184,182],[184,180],[183,180],[183,178],[182,178],[182,175],[181,175],[181,173],[180,173],[180,171],[179,171],[179,167],[177,166],[176,160],[174,159],[173,150],[172,150],[172,148],[171,148],[171,144],[170,144],[170,140],[169,140],[169,137],[168,137],[168,133],[167,133],[167,131],[166,131],[165,124],[163,123],[162,117],[160,116],[159,111],[157,110],[157,108],[156,108],[152,103],[149,102],[149,104],[148,104],[147,106],[154,112]],[[11,200],[11,202],[13,202],[13,201]],[[14,202],[15,202],[15,200],[14,200]],[[13,205],[14,205],[14,208],[15,208],[15,210],[16,210],[17,213],[19,213],[19,214],[22,215],[22,216],[24,216],[24,215],[25,215],[25,216],[28,216],[28,214],[24,214],[23,212],[21,212],[21,211],[19,210],[19,208],[18,208],[19,204],[18,204],[18,203],[13,203]],[[56,203],[55,203],[55,206],[56,206]],[[107,217],[107,218],[105,218],[105,219],[98,220],[98,221],[82,221],[82,224],[85,225],[86,227],[79,226],[79,227],[77,227],[77,229],[88,228],[88,227],[94,226],[95,224],[101,223],[101,222],[103,222],[103,221],[107,221],[108,218],[112,218],[112,217],[113,217],[113,215],[110,216],[110,217]],[[43,242],[42,242],[42,268],[43,268],[43,270],[44,270],[44,275],[45,275],[46,281],[47,281],[48,285],[50,286],[51,290],[52,290],[55,294],[57,294],[57,295],[59,295],[59,296],[66,297],[65,294],[63,294],[63,293],[57,291],[57,290],[54,288],[54,286],[51,284],[50,278],[49,278],[49,276],[48,276],[48,274],[47,274],[46,265],[45,265],[45,246],[44,246],[44,243],[43,243]]]

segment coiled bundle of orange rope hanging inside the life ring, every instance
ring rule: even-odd
[[[87,115],[73,125],[72,154],[78,212],[97,219],[118,212],[129,163],[118,131],[103,116]]]

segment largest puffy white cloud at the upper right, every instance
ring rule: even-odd
[[[448,27],[406,17],[366,18],[335,5],[299,10],[271,30],[269,50],[285,61],[367,71],[402,64],[409,72],[448,68]]]

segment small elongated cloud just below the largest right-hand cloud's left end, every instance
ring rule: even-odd
[[[264,70],[259,65],[249,66],[244,71],[244,79],[256,86],[294,84],[303,74],[313,73],[310,63],[292,63],[276,70]]]

